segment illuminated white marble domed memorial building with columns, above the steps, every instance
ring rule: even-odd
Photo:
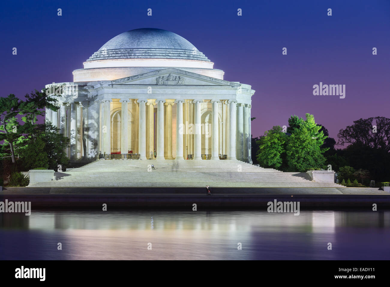
[[[46,120],[71,139],[72,160],[99,153],[140,159],[251,160],[251,86],[224,72],[183,37],[161,29],[124,32],[46,87],[58,111]]]

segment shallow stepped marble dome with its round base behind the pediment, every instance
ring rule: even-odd
[[[224,72],[183,37],[163,29],[141,28],[106,42],[73,71],[74,82],[116,80],[165,68],[178,68],[223,80]]]

